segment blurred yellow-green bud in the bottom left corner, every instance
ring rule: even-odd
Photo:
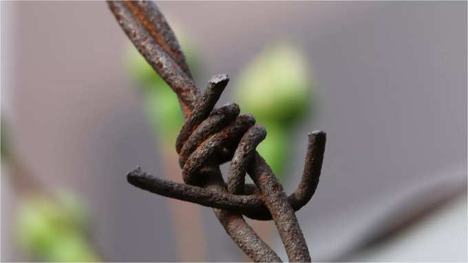
[[[17,240],[34,258],[49,262],[99,261],[86,236],[88,213],[70,192],[62,192],[53,200],[33,194],[23,198],[17,213]]]

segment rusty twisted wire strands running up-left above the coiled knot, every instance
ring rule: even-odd
[[[158,75],[169,84],[169,87],[178,94],[184,116],[189,115],[198,96],[198,89],[187,73],[189,72],[187,62],[185,62],[185,58],[182,58],[184,55],[175,35],[165,22],[164,16],[160,12],[156,12],[158,10],[156,5],[152,2],[138,4],[137,1],[108,1],[107,3],[119,25],[138,51]],[[143,5],[146,8],[142,8]],[[156,16],[159,18],[147,19]],[[151,24],[150,21],[163,23]],[[173,37],[165,38],[164,36],[167,35]],[[164,49],[168,46],[173,47],[169,49],[170,52]],[[179,57],[174,60],[170,54]],[[187,71],[184,71],[184,68],[187,68]]]

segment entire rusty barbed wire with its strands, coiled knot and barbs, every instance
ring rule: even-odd
[[[281,259],[257,236],[243,215],[257,220],[273,219],[289,261],[310,262],[295,211],[306,205],[317,189],[325,133],[310,133],[301,183],[293,194],[286,196],[273,171],[255,150],[265,138],[266,130],[254,126],[252,115],[238,116],[237,104],[213,109],[228,76],[211,78],[208,88],[200,95],[175,34],[156,4],[108,3],[138,51],[177,93],[186,119],[175,144],[185,183],[158,179],[140,168],[127,174],[129,183],[155,194],[213,207],[226,233],[255,262]],[[219,168],[226,161],[231,161],[227,186]],[[246,173],[255,185],[244,183]]]

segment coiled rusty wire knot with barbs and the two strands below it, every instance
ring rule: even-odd
[[[215,213],[222,225],[231,237],[237,239],[241,249],[246,250],[246,246],[241,245],[246,240],[256,240],[261,244],[258,251],[246,252],[248,255],[254,258],[255,255],[261,255],[259,261],[279,261],[275,252],[248,227],[241,215],[257,220],[274,219],[280,236],[281,231],[284,232],[284,242],[296,238],[304,240],[295,216],[291,218],[290,214],[293,215],[294,211],[306,205],[317,188],[326,135],[321,131],[310,133],[301,183],[297,190],[286,198],[281,184],[255,150],[266,137],[265,128],[255,125],[253,115],[239,115],[240,107],[235,103],[213,109],[228,80],[227,75],[213,76],[209,80],[208,87],[193,104],[193,110],[176,139],[175,150],[179,154],[185,184],[157,179],[142,172],[140,168],[129,172],[127,178],[129,183],[144,190],[216,208]],[[231,161],[227,185],[219,172],[219,165],[226,161]],[[252,177],[255,185],[245,183],[246,173]],[[213,177],[213,174],[219,176]],[[286,200],[287,204],[281,204],[281,200]],[[284,211],[285,207],[286,210],[290,207],[289,213]],[[281,209],[283,211],[280,211]],[[232,227],[230,222],[235,217],[238,222]],[[286,225],[298,229],[292,235],[294,238],[290,236],[290,229],[286,235],[285,221]],[[279,222],[282,222],[282,225],[278,224]],[[241,232],[244,233],[242,238],[239,236]],[[246,233],[248,238],[245,237]],[[285,243],[285,246],[288,244],[294,242]],[[308,251],[304,251],[307,247],[290,247],[290,250],[295,250],[295,253],[291,252],[292,255],[296,255],[292,260],[310,260]],[[269,260],[265,260],[265,257],[269,257]]]

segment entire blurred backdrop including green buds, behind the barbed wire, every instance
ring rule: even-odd
[[[467,261],[466,2],[158,5],[198,87],[228,73],[220,105],[266,126],[286,192],[326,131],[297,212],[314,260]],[[182,181],[166,91],[106,3],[1,2],[2,261],[248,260],[211,209],[125,179]]]

